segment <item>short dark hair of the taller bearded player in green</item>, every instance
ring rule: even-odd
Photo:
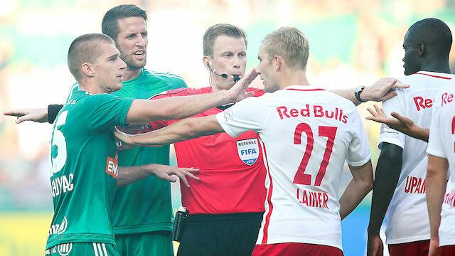
[[[114,39],[114,41],[117,41],[117,36],[119,35],[119,26],[117,21],[121,18],[129,17],[141,17],[144,18],[144,21],[147,21],[147,12],[134,4],[122,4],[115,6],[107,11],[105,16],[102,18],[102,33],[110,36]]]

